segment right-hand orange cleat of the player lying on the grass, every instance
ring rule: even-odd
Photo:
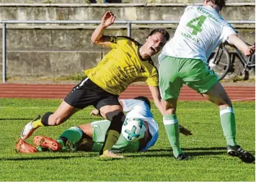
[[[33,143],[40,147],[48,147],[48,149],[52,150],[53,152],[61,150],[61,145],[56,140],[49,137],[35,136]]]

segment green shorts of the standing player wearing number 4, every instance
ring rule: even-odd
[[[219,81],[202,60],[166,56],[159,65],[162,99],[178,98],[183,83],[198,93],[206,93]]]

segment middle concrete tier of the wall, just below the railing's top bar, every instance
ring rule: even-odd
[[[134,28],[131,31],[131,37],[143,44],[151,29],[159,27]],[[167,29],[170,37],[174,36],[175,28],[169,28],[168,25],[161,27]],[[255,27],[237,29],[237,31],[245,41],[255,42]],[[90,39],[92,32],[94,29],[58,29],[58,27],[55,29],[7,29],[6,45],[8,51],[108,51],[109,48],[92,43]],[[119,27],[107,29],[105,35],[127,36],[127,29]],[[2,44],[0,44],[0,50],[1,47]]]

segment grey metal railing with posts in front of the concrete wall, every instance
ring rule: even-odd
[[[3,83],[6,82],[6,24],[100,24],[101,21],[72,21],[72,20],[1,20],[2,24],[2,58],[3,58]],[[228,21],[231,24],[255,24],[255,21]],[[115,21],[115,24],[127,24],[127,35],[131,37],[131,24],[178,24],[179,21]]]

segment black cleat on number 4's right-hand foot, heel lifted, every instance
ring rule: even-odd
[[[248,153],[246,150],[243,150],[242,147],[240,147],[239,145],[227,145],[226,150],[228,150],[228,155],[237,157],[241,159],[244,163],[253,163],[255,161],[255,157],[252,154]]]

